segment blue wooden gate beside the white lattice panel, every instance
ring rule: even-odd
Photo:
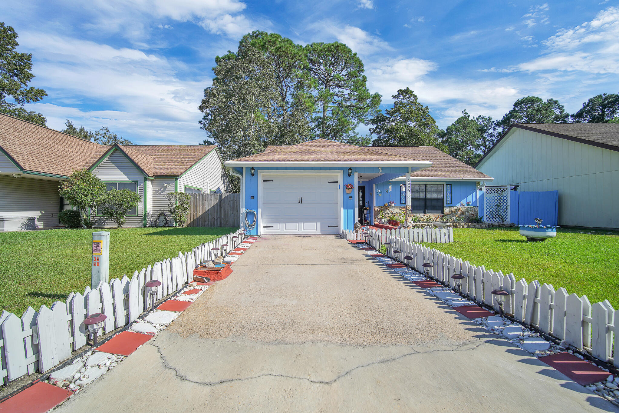
[[[509,220],[518,225],[535,225],[535,218],[543,219],[542,225],[557,225],[559,219],[559,191],[511,191]]]

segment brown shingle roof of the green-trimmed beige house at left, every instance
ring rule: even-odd
[[[90,168],[111,146],[0,113],[0,147],[27,171],[68,176]],[[118,146],[148,176],[179,176],[216,146]]]

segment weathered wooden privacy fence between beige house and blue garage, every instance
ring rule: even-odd
[[[240,227],[241,194],[192,194],[188,227]]]

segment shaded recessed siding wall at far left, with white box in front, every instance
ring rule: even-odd
[[[0,224],[5,231],[58,226],[58,180],[0,175]]]

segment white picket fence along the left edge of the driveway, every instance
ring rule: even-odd
[[[157,289],[157,300],[182,289],[193,280],[197,264],[219,254],[211,248],[227,244],[225,251],[232,250],[242,241],[240,232],[223,235],[191,252],[179,252],[174,258],[158,261],[134,272],[131,279],[125,275],[109,284],[100,282],[95,289],[86,287],[84,294],[71,293],[66,302],[54,302],[51,308],[42,305],[37,312],[28,307],[21,318],[3,311],[0,316],[0,383],[25,374],[44,373],[71,357],[72,351],[86,344],[88,335],[84,320],[93,313],[107,316],[103,333],[132,323],[149,308],[143,288],[147,281],[162,282]],[[233,240],[234,236],[238,238]]]

